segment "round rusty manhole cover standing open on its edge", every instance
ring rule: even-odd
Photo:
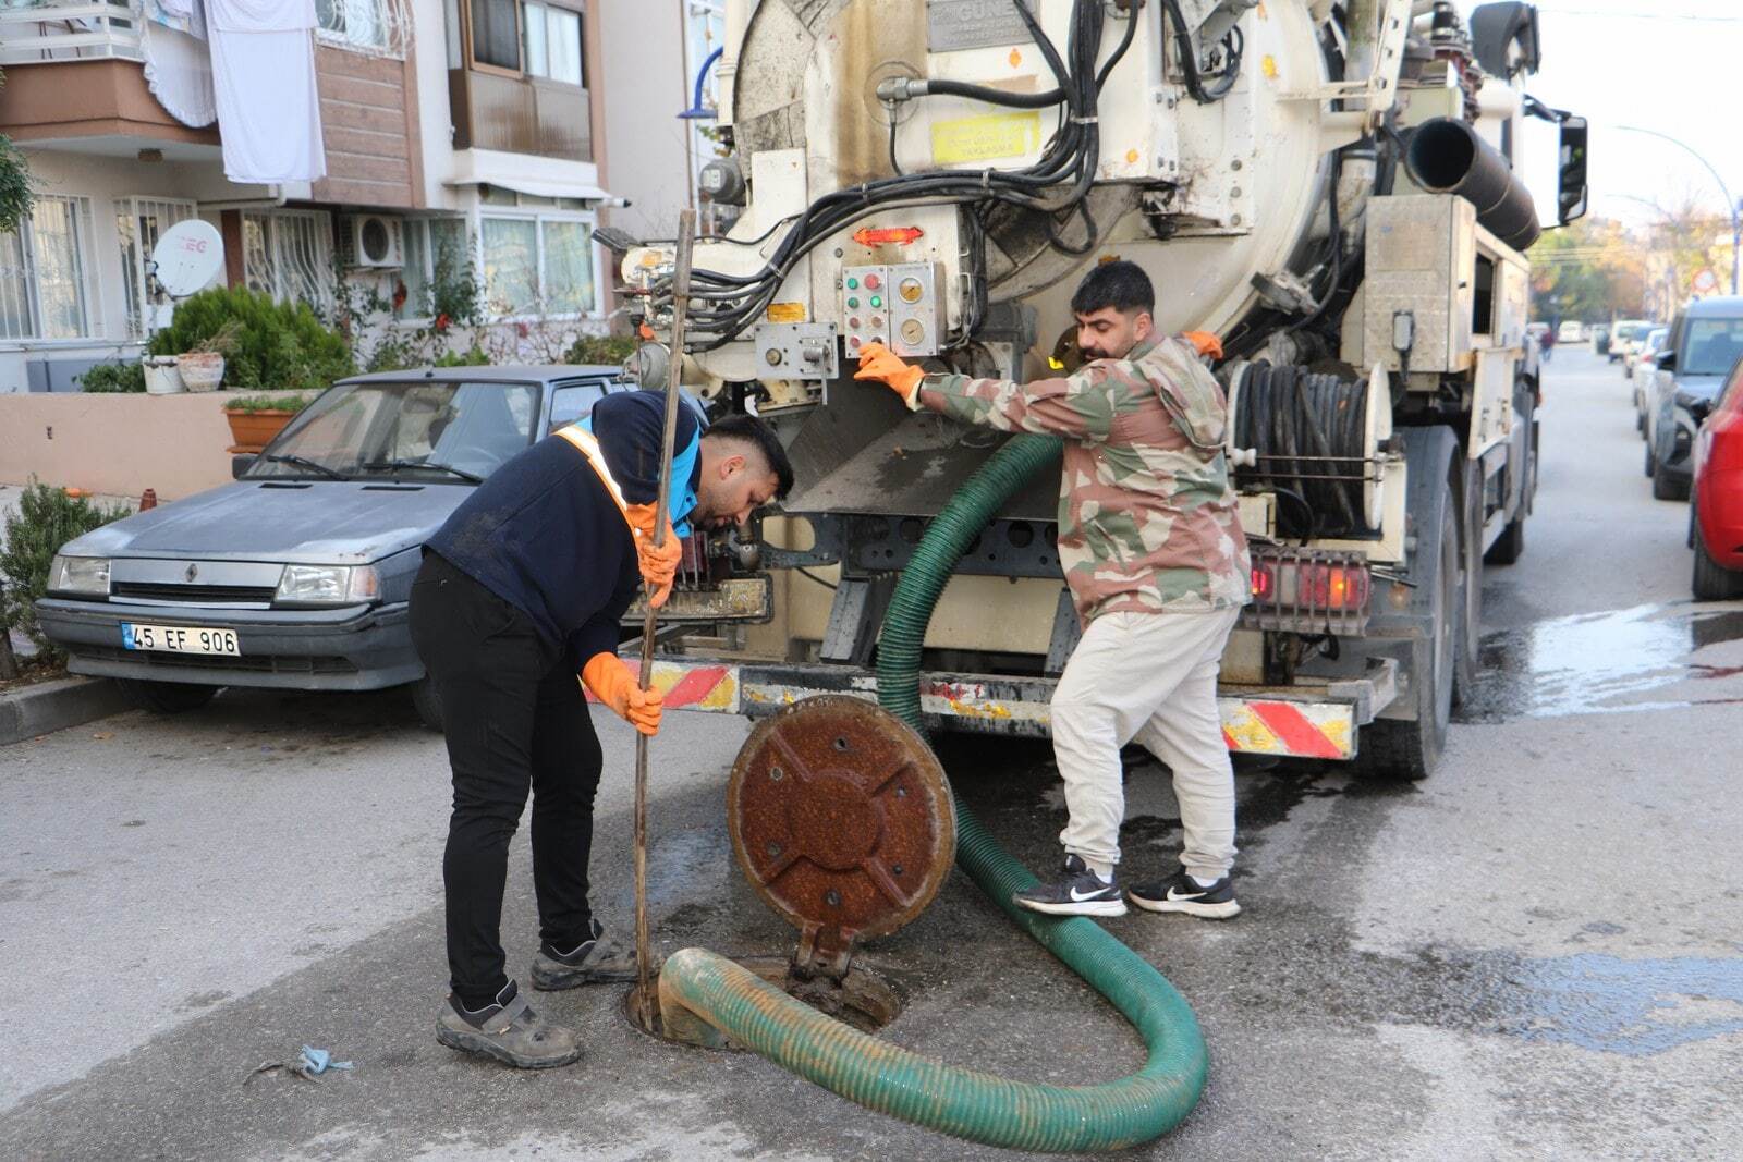
[[[899,718],[845,695],[795,702],[751,732],[727,786],[744,878],[804,934],[842,955],[887,936],[938,894],[957,847],[945,770]]]

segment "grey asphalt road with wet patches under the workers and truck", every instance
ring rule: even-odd
[[[1689,601],[1685,509],[1649,498],[1614,366],[1560,350],[1525,559],[1485,578],[1485,676],[1426,784],[1243,774],[1241,899],[1109,927],[1192,1000],[1213,1061],[1145,1159],[1720,1159],[1743,1153],[1743,606]],[[596,904],[629,916],[631,735]],[[722,821],[744,725],[657,742],[662,951],[781,953]],[[1046,753],[953,749],[1032,866],[1063,819]],[[0,1143],[21,1159],[969,1159],[772,1064],[655,1044],[622,990],[540,1002],[587,1056],[516,1073],[434,1042],[441,742],[396,695],[221,695],[0,751]],[[1166,866],[1166,779],[1129,779],[1128,868]],[[523,841],[505,909],[525,970]],[[960,875],[865,960],[887,1037],[1027,1080],[1140,1063],[1122,1021]],[[354,1070],[249,1071],[302,1045]]]

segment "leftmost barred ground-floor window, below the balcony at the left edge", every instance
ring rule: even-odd
[[[19,230],[0,235],[0,338],[91,334],[89,239],[89,199],[47,193]]]

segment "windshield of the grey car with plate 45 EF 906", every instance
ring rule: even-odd
[[[532,383],[342,383],[249,469],[258,476],[411,476],[467,483],[532,444]]]

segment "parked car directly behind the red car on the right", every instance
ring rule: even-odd
[[[1743,296],[1692,301],[1670,324],[1647,402],[1645,474],[1659,500],[1689,498],[1699,427],[1694,409],[1712,402],[1738,355],[1743,355]]]

